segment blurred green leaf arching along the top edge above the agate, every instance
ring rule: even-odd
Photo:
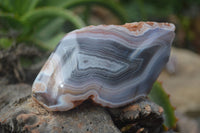
[[[110,10],[114,15],[116,15],[122,23],[127,22],[127,15],[125,10],[120,6],[120,4],[114,0],[67,0],[65,3],[62,4],[62,7],[65,8],[74,8],[76,6],[82,5],[91,5],[96,4],[102,7],[106,7]]]

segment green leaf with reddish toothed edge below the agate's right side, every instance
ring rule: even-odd
[[[177,121],[174,114],[174,107],[171,105],[169,95],[164,91],[161,83],[155,82],[148,96],[153,102],[163,107],[164,125],[168,128],[174,128]]]

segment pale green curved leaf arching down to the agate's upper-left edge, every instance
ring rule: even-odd
[[[71,22],[76,28],[85,26],[84,22],[69,10],[57,7],[43,7],[30,11],[21,17],[21,21],[34,26],[37,22],[45,17],[61,17]]]

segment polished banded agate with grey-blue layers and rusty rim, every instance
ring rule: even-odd
[[[36,77],[33,99],[50,111],[86,99],[120,107],[145,97],[168,61],[175,26],[135,22],[68,33]]]

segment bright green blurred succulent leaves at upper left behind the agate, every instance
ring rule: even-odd
[[[0,48],[25,43],[52,50],[66,32],[86,25],[89,10],[75,14],[73,9],[92,5],[126,21],[123,8],[113,0],[0,0]]]

